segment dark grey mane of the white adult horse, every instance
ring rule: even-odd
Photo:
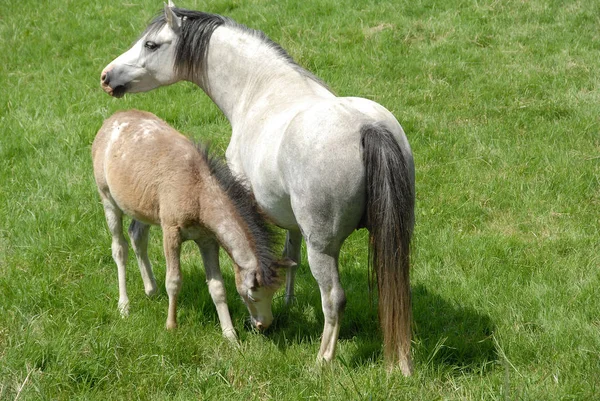
[[[182,19],[181,34],[177,42],[175,52],[175,70],[184,77],[204,77],[206,72],[206,56],[210,38],[221,25],[234,27],[240,31],[258,38],[267,47],[274,50],[277,57],[286,61],[300,75],[311,79],[327,90],[327,85],[314,74],[298,65],[294,59],[278,43],[272,41],[264,32],[248,28],[235,22],[231,18],[218,14],[210,14],[202,11],[186,10],[184,8],[172,8],[175,15]],[[164,12],[159,13],[150,22],[142,36],[157,33],[166,24]]]

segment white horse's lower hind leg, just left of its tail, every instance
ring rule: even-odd
[[[323,253],[307,243],[307,254],[310,271],[319,284],[321,306],[325,316],[317,361],[330,362],[335,357],[342,315],[346,306],[346,295],[340,283],[337,265],[339,249],[331,253]]]

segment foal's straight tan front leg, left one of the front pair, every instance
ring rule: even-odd
[[[163,227],[163,247],[167,264],[165,287],[169,296],[167,329],[174,329],[177,327],[177,296],[181,290],[182,281],[179,266],[181,236],[177,227]]]

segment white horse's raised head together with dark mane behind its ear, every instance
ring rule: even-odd
[[[175,8],[169,1],[140,39],[104,68],[102,88],[121,97],[202,74],[212,32],[226,21],[220,15]]]

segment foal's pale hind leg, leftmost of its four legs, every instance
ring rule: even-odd
[[[112,236],[112,257],[117,264],[119,279],[119,312],[125,317],[129,314],[129,298],[125,282],[125,265],[127,263],[127,241],[123,236],[123,212],[109,199],[103,199],[104,215],[110,235]]]

